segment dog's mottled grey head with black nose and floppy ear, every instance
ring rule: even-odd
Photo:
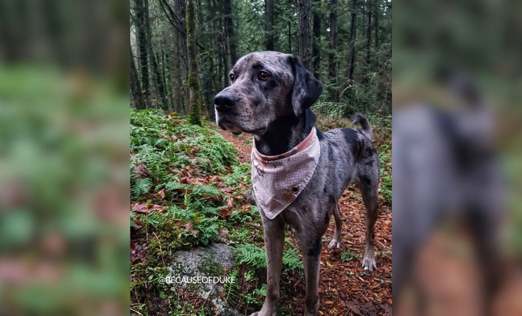
[[[323,91],[299,57],[279,52],[243,56],[229,79],[230,85],[216,95],[214,104],[216,123],[234,134],[262,135],[276,118],[300,116]]]

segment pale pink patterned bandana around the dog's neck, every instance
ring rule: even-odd
[[[319,162],[321,148],[315,127],[298,145],[276,156],[260,154],[252,146],[252,189],[259,208],[272,219],[297,198]]]

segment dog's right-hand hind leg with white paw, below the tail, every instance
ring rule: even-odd
[[[358,181],[359,188],[361,189],[362,201],[366,207],[366,247],[364,249],[362,267],[364,270],[369,271],[373,271],[377,268],[373,250],[375,237],[374,227],[378,216],[377,181],[378,178],[376,178],[376,180],[371,180],[367,176],[363,176],[362,179]]]

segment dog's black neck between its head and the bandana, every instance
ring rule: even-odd
[[[315,125],[315,115],[306,109],[300,116],[293,113],[272,121],[263,135],[254,135],[256,149],[260,154],[275,156],[286,153],[302,142]]]

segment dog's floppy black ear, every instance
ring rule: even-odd
[[[319,95],[323,92],[323,85],[321,81],[315,79],[312,72],[304,68],[301,58],[294,56],[289,58],[295,78],[292,90],[292,107],[295,116],[300,116],[319,99]]]

